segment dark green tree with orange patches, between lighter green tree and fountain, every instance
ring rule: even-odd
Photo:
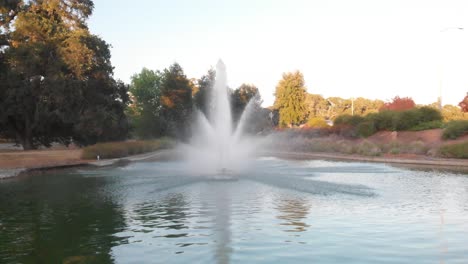
[[[192,85],[178,63],[165,69],[161,83],[161,116],[166,135],[186,138],[192,115]]]

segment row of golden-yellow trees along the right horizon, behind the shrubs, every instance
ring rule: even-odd
[[[349,99],[340,97],[324,98],[318,94],[309,94],[305,87],[304,76],[299,71],[283,74],[283,78],[276,86],[275,96],[272,109],[276,113],[275,124],[279,127],[328,127],[335,120],[340,123],[341,120],[365,120],[366,118],[372,119],[392,115],[393,127],[387,126],[387,128],[389,130],[398,130],[402,129],[402,127],[406,129],[415,126],[413,120],[413,117],[417,115],[415,112],[435,113],[439,111],[438,104],[433,103],[422,108],[423,110],[400,113],[400,111],[420,107],[416,106],[414,101],[408,97],[400,98],[397,96],[390,102],[384,102],[362,97]],[[461,108],[445,105],[439,113],[440,121],[468,120],[468,113],[466,113],[466,110],[468,110],[466,107],[467,102],[468,96],[459,104]],[[382,111],[385,113],[381,113]],[[354,118],[350,118],[350,116]],[[401,121],[398,125],[396,124],[397,120]],[[412,123],[412,125],[408,126],[405,122]],[[435,126],[435,124],[432,126]],[[377,127],[376,129],[380,128]]]

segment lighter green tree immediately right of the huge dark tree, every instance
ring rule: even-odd
[[[127,109],[137,137],[154,138],[163,135],[161,117],[162,73],[143,68],[131,77],[130,93],[133,104]]]

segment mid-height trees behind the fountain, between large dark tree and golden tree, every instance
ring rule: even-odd
[[[187,139],[195,112],[201,111],[209,117],[209,99],[215,78],[216,72],[211,69],[199,79],[189,79],[177,63],[161,71],[144,68],[133,75],[130,84],[132,103],[126,111],[132,136]],[[235,122],[252,101],[246,132],[258,133],[272,128],[270,111],[261,107],[262,99],[257,87],[242,84],[228,91]]]

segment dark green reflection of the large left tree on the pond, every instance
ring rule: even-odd
[[[113,263],[125,221],[105,184],[59,174],[0,184],[2,263]]]

